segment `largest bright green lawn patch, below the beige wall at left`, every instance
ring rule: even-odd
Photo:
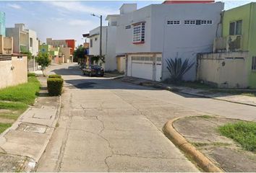
[[[40,82],[36,79],[35,74],[28,74],[27,78],[28,82],[25,84],[0,89],[0,100],[22,102],[32,105],[40,91]]]

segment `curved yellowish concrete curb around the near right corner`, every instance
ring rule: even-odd
[[[163,133],[169,138],[180,150],[189,156],[195,163],[205,172],[223,172],[222,169],[216,166],[208,157],[198,151],[195,146],[192,146],[180,133],[178,133],[173,123],[182,117],[177,117],[169,120],[163,126]]]

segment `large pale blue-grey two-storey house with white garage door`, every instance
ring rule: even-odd
[[[126,57],[126,74],[163,81],[170,76],[167,58],[189,58],[213,49],[213,39],[221,34],[223,3],[172,1],[137,9],[136,4],[120,8],[116,28],[116,56]],[[196,66],[185,80],[196,79]]]

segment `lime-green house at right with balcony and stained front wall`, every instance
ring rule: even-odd
[[[222,36],[198,56],[197,79],[218,87],[256,87],[256,3],[223,12]]]

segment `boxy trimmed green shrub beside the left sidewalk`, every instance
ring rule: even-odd
[[[47,89],[50,96],[61,95],[63,87],[62,78],[48,78],[47,79]]]

